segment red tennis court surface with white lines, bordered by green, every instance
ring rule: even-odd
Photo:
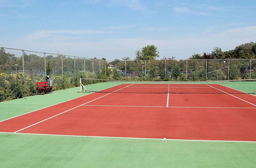
[[[122,84],[2,121],[0,132],[256,142],[255,104],[215,84]]]

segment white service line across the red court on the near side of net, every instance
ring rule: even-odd
[[[160,108],[238,108],[256,109],[256,107],[195,107],[195,106],[143,106],[143,105],[82,105],[82,106],[101,106],[101,107],[160,107]]]

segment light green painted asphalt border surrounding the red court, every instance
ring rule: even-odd
[[[121,83],[121,82],[119,82]],[[147,82],[148,83],[148,82]],[[191,82],[206,83],[206,82]],[[256,82],[207,82],[256,91]],[[117,85],[89,85],[102,90]],[[0,121],[76,98],[79,88],[0,102]],[[1,167],[255,167],[256,143],[0,133]]]

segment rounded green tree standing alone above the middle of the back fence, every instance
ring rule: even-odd
[[[156,60],[159,57],[159,52],[155,45],[147,45],[142,50],[136,51],[135,60]]]

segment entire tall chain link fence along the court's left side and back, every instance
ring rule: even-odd
[[[73,55],[1,48],[0,72],[60,77],[147,80],[236,80],[256,78],[255,59],[105,61]]]

